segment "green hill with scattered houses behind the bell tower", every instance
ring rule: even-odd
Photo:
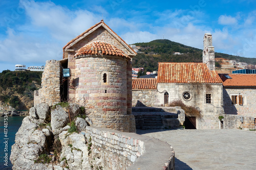
[[[202,50],[199,48],[167,39],[140,42],[135,43],[135,45],[141,48],[138,55],[133,58],[133,67],[144,67],[144,73],[157,70],[158,62],[202,62]],[[175,52],[182,53],[182,55],[174,55]],[[245,58],[223,53],[215,53],[215,57],[256,64],[256,58]]]

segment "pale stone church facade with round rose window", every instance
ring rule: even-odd
[[[158,83],[158,91],[166,90],[169,94],[168,103],[181,100],[187,106],[198,107],[202,118],[197,118],[197,129],[219,129],[219,116],[224,113],[222,100],[222,84],[176,84]],[[183,93],[189,92],[189,100],[183,99]],[[211,94],[211,103],[206,103],[206,94]],[[159,103],[164,105],[164,92],[157,93]]]

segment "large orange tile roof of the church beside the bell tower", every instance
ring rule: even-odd
[[[157,83],[222,83],[205,63],[158,63]]]

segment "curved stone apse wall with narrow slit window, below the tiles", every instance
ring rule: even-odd
[[[127,60],[118,57],[75,59],[75,101],[86,104],[89,118],[95,126],[136,131],[135,125],[131,124],[133,115],[127,115],[126,70]]]

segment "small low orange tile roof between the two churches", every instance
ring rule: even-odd
[[[133,89],[157,89],[157,79],[133,79]]]

